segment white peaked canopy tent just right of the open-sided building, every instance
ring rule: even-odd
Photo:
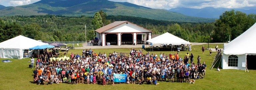
[[[159,35],[157,37],[154,37],[150,40],[147,40],[146,42],[152,43],[152,44],[172,44],[172,45],[181,45],[181,44],[190,44],[190,42],[185,41],[173,34],[170,34],[168,32]]]

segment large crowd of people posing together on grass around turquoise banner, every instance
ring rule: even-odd
[[[47,49],[37,58],[34,83],[39,84],[119,84],[114,82],[113,74],[127,74],[132,84],[159,84],[157,82],[188,82],[190,79],[205,77],[205,62],[201,57],[194,62],[194,55],[187,53],[181,58],[178,53],[143,53],[143,50],[129,49],[130,53],[98,54],[84,49],[81,54],[69,56],[53,55]],[[190,63],[189,64],[189,60]],[[34,58],[31,58],[31,63]],[[33,68],[33,65],[32,65]],[[174,80],[177,78],[177,80]]]

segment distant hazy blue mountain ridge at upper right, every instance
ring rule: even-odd
[[[218,19],[219,16],[225,12],[232,9],[229,8],[213,8],[213,7],[206,7],[201,9],[195,9],[195,8],[185,8],[185,7],[179,7],[179,8],[173,8],[169,9],[168,11],[171,12],[178,12],[187,16],[193,16],[193,17],[201,17],[201,18],[214,18]],[[241,11],[248,14],[256,14],[256,9],[234,9],[235,11]]]

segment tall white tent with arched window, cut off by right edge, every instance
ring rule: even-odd
[[[256,55],[256,23],[240,36],[224,44],[222,69],[245,70],[247,55]]]

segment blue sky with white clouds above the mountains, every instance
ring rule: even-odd
[[[40,0],[0,0],[0,5],[20,6],[35,3]],[[188,8],[243,8],[256,9],[256,0],[109,0],[129,2],[154,9],[171,9],[176,7]]]

